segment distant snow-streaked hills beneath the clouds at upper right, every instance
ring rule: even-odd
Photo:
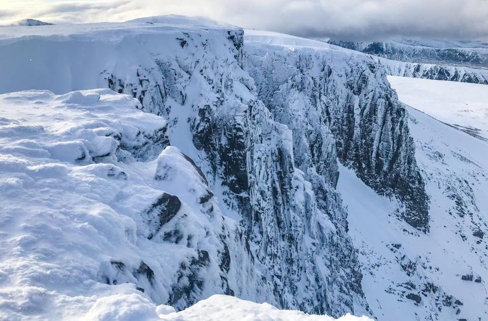
[[[488,44],[484,42],[318,40],[376,56],[389,75],[488,84]]]

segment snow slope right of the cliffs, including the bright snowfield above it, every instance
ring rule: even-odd
[[[451,112],[452,100],[482,106],[484,89],[488,89],[459,82],[389,79],[400,100],[462,124],[469,114]],[[443,110],[445,106],[447,110]],[[365,296],[379,320],[426,320],[431,317],[429,309],[437,310],[440,320],[485,319],[488,250],[483,236],[475,231],[483,231],[484,236],[487,232],[488,144],[407,108],[416,160],[430,197],[429,234],[419,233],[396,217],[398,201],[377,195],[352,170],[340,168],[338,190],[359,249]],[[465,281],[463,275],[473,275],[473,280],[481,277],[481,281]],[[436,286],[435,292],[426,290],[429,283]],[[420,303],[408,299],[408,294],[419,295]]]

